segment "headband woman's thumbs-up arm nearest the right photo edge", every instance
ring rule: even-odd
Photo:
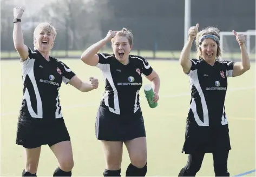
[[[237,42],[240,46],[241,51],[241,62],[237,62],[234,64],[232,76],[240,76],[241,74],[245,73],[247,70],[250,70],[251,64],[250,59],[246,50],[245,46],[245,36],[242,34],[237,34],[237,32],[233,31]]]

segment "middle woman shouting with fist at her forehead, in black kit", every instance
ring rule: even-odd
[[[111,41],[112,54],[97,53]],[[140,108],[139,91],[142,74],[152,82],[154,100],[158,101],[160,78],[146,59],[130,55],[133,34],[123,28],[109,31],[107,36],[83,52],[81,59],[98,67],[104,77],[105,91],[96,117],[96,138],[102,142],[106,158],[104,176],[121,176],[123,143],[130,165],[126,176],[145,176],[147,173],[146,131]]]

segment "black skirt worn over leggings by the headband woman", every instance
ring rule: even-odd
[[[186,125],[182,153],[212,153],[230,150],[228,125],[198,126]]]

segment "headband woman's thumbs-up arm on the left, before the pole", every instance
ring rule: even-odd
[[[189,38],[180,53],[180,65],[182,66],[183,72],[186,74],[189,73],[192,66],[192,63],[189,60],[189,55],[191,52],[193,40],[196,34],[198,33],[198,27],[199,27],[199,24],[196,24],[196,26],[192,26],[191,28],[189,28],[188,30]]]

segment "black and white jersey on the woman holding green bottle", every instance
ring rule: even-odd
[[[103,73],[105,91],[101,105],[115,114],[133,114],[140,108],[141,74],[148,76],[153,69],[146,59],[129,55],[129,64],[123,65],[113,55],[97,53],[96,65]]]

